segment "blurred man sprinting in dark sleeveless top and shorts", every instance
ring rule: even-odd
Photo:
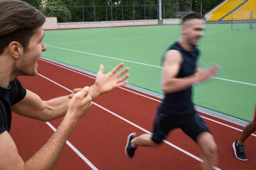
[[[202,151],[203,170],[210,170],[217,162],[217,146],[208,126],[194,110],[191,101],[192,85],[209,79],[218,71],[213,65],[208,69],[196,69],[199,51],[196,48],[202,33],[203,20],[191,13],[182,20],[182,38],[166,51],[162,73],[162,89],[165,98],[158,107],[153,135],[137,137],[131,133],[127,139],[126,155],[132,158],[138,146],[157,147],[174,128],[195,141]]]

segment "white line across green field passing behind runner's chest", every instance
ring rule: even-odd
[[[46,45],[46,46],[49,46],[49,45]],[[74,52],[77,52],[77,53],[95,55],[95,56],[98,56],[98,57],[110,58],[110,59],[114,59],[114,60],[120,60],[120,61],[125,61],[125,62],[131,62],[131,63],[141,64],[141,65],[146,65],[146,66],[152,66],[152,67],[156,67],[156,68],[163,68],[163,67],[160,67],[160,66],[154,66],[154,65],[144,64],[144,63],[140,63],[140,62],[132,62],[132,61],[129,61],[129,60],[122,60],[122,59],[119,59],[119,58],[108,57],[108,56],[98,55],[98,54],[93,54],[93,53],[86,53],[86,52],[82,52],[82,51],[76,51],[76,50],[71,50],[71,49],[65,49],[65,48],[56,47],[56,46],[50,46],[50,47],[53,47],[53,48],[56,48],[56,49],[63,49],[63,50],[67,50],[67,51],[74,51]],[[221,79],[221,80],[225,80],[225,81],[228,81],[228,82],[235,82],[235,83],[240,83],[240,84],[246,84],[246,85],[256,86],[256,84],[245,83],[245,82],[239,82],[239,81],[230,80],[230,79],[223,79],[223,78],[218,78],[218,77],[211,77],[211,78],[214,78],[214,79]]]

